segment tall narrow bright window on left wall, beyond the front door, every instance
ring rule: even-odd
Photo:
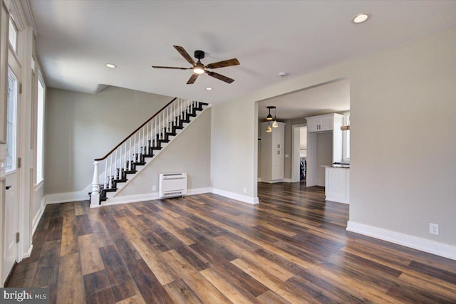
[[[43,131],[45,88],[43,80],[41,80],[41,77],[38,77],[38,102],[36,110],[36,184],[39,184],[39,182],[44,179]]]

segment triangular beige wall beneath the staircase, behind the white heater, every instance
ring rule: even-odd
[[[188,125],[182,133],[154,157],[140,174],[116,197],[158,192],[158,176],[160,173],[187,173],[188,189],[210,187],[210,123],[211,109],[198,115],[197,119]],[[152,191],[152,186],[156,191]]]

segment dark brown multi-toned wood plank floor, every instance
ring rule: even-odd
[[[259,199],[48,205],[7,286],[51,303],[456,303],[456,261],[347,232],[323,188],[259,183]]]

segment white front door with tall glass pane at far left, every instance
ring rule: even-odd
[[[6,100],[6,192],[4,217],[4,273],[6,279],[18,259],[19,246],[16,233],[19,232],[19,79],[21,68],[15,59],[9,57],[8,97]]]

